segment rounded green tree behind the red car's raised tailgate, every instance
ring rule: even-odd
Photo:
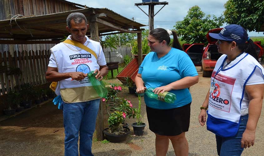
[[[210,29],[222,26],[222,17],[205,15],[197,5],[191,7],[183,21],[177,21],[173,26],[178,35],[182,36],[185,43],[205,43],[207,42],[206,34]]]

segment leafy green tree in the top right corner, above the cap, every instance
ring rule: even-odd
[[[225,22],[256,31],[264,24],[263,0],[228,0],[224,5]]]

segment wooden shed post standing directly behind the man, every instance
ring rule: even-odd
[[[99,42],[98,23],[97,22],[90,22],[90,31],[91,31],[92,40]],[[98,141],[102,141],[104,139],[104,134],[103,134],[104,116],[103,116],[103,111],[102,111],[102,100],[100,100],[95,130],[96,130],[96,139]]]

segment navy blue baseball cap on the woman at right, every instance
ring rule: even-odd
[[[218,40],[235,41],[238,44],[244,44],[249,40],[247,31],[236,24],[225,26],[219,34],[209,33],[209,36]]]

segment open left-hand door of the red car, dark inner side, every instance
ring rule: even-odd
[[[203,45],[200,43],[192,44],[185,50],[195,66],[202,65]]]

